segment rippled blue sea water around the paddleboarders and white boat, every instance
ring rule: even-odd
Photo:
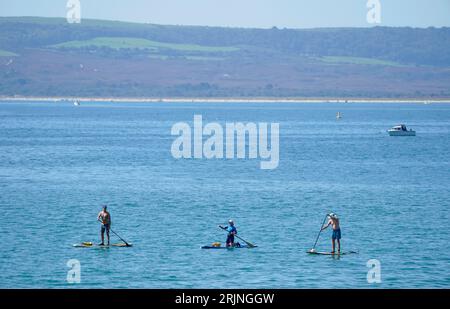
[[[174,159],[171,127],[195,114],[279,123],[279,167]],[[449,288],[449,153],[446,104],[1,103],[0,287]],[[102,204],[133,247],[72,247],[99,241]],[[306,254],[330,211],[359,254]],[[258,248],[200,249],[229,218]]]

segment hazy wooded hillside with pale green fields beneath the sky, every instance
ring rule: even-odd
[[[450,97],[450,28],[0,17],[0,48],[0,96]]]

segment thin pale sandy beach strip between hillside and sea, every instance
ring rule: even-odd
[[[0,102],[118,102],[118,103],[450,103],[450,98],[136,98],[136,97],[0,97]]]

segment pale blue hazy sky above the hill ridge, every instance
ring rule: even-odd
[[[81,18],[230,27],[367,27],[367,0],[80,0]],[[450,0],[379,0],[382,26],[450,26]],[[67,0],[0,0],[0,16],[65,17]]]

